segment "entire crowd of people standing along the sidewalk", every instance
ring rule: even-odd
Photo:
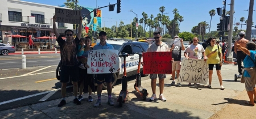
[[[82,17],[81,17],[82,21]],[[82,22],[79,26],[82,26]],[[95,92],[94,89],[94,78],[97,77],[97,101],[94,104],[94,107],[99,107],[101,105],[101,93],[102,93],[102,83],[107,84],[108,91],[108,104],[113,106],[114,102],[112,100],[112,74],[88,74],[87,69],[89,66],[87,65],[87,57],[90,50],[97,49],[105,49],[111,50],[114,49],[112,45],[106,42],[107,35],[106,32],[101,31],[99,33],[100,42],[97,45],[94,45],[92,48],[90,46],[91,39],[90,37],[81,38],[82,27],[79,27],[79,32],[75,39],[73,38],[73,31],[66,30],[65,37],[66,40],[63,40],[60,34],[57,32],[56,28],[56,16],[53,16],[53,32],[57,37],[57,42],[60,46],[60,56],[61,56],[61,72],[60,72],[60,82],[61,82],[61,96],[62,100],[58,104],[58,107],[62,107],[66,104],[65,96],[66,96],[66,87],[69,82],[69,77],[72,79],[73,83],[73,103],[80,105],[82,97],[82,92],[84,87],[88,87],[89,97],[88,101],[92,102],[92,92]],[[175,74],[177,78],[179,78],[180,68],[181,68],[181,50],[185,50],[184,56],[185,58],[194,58],[201,59],[203,57],[204,61],[207,61],[209,65],[209,84],[208,88],[211,88],[212,84],[212,74],[213,67],[216,67],[218,80],[220,82],[221,90],[224,90],[224,86],[222,86],[222,76],[221,76],[221,66],[222,66],[222,56],[223,56],[223,44],[220,42],[216,43],[216,39],[210,37],[207,41],[205,41],[207,46],[203,46],[199,44],[199,39],[197,37],[193,38],[191,45],[185,49],[183,44],[183,39],[180,39],[179,36],[175,36],[175,39],[180,39],[181,46],[175,46],[175,44],[171,45],[171,48],[168,45],[161,41],[162,36],[160,32],[156,31],[154,34],[155,42],[152,43],[147,49],[147,52],[172,52],[172,83],[171,85],[175,85]],[[246,101],[246,104],[254,105],[256,103],[256,91],[255,84],[256,78],[255,73],[255,53],[256,53],[256,45],[254,42],[248,42],[248,40],[244,39],[244,32],[240,32],[241,39],[235,42],[234,50],[237,53],[237,56],[240,57],[238,59],[244,60],[243,62],[245,71],[240,70],[241,61],[238,61],[238,72],[241,73],[242,82],[245,82],[246,91],[248,92],[248,96],[250,101]],[[203,56],[201,56],[203,54]],[[142,65],[143,62],[142,62]],[[96,76],[95,76],[96,75]],[[156,97],[156,79],[159,78],[159,97],[158,99],[162,101],[166,101],[166,98],[163,95],[164,91],[164,79],[166,78],[166,74],[150,74],[151,79],[151,88],[152,88],[152,96],[150,97],[150,101],[154,101],[157,99]],[[199,86],[200,84],[194,83],[194,85]],[[188,83],[188,86],[192,86],[191,83]],[[79,92],[79,94],[78,94]],[[77,96],[79,95],[79,96]],[[253,98],[254,97],[254,98]]]

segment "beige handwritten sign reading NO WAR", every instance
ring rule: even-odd
[[[177,82],[207,84],[209,78],[209,66],[204,59],[186,59],[181,63],[179,79]]]

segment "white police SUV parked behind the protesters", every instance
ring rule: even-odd
[[[126,75],[132,76],[137,74],[138,63],[139,63],[139,54],[135,54],[137,52],[146,52],[148,48],[148,44],[146,42],[134,42],[134,41],[112,41],[107,40],[108,44],[111,44],[115,50],[118,50],[118,53],[121,54],[123,52],[127,54],[134,54],[133,56],[126,57]],[[117,82],[117,79],[121,79],[123,76],[123,57],[119,57],[119,67],[120,70],[117,73],[113,73],[113,82],[112,87]],[[60,80],[60,63],[56,70],[56,77]],[[141,75],[147,76],[148,74],[143,74],[143,66],[141,65]],[[96,84],[97,86],[97,84]],[[106,83],[103,83],[103,89],[106,89]]]

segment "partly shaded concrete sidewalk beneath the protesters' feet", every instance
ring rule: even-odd
[[[73,104],[73,96],[67,97],[67,104],[61,108],[57,107],[61,99],[46,101],[43,103],[28,105],[16,109],[9,109],[0,112],[0,118],[210,118],[215,113],[221,113],[221,109],[230,103],[230,100],[245,90],[245,84],[234,82],[233,76],[237,73],[237,66],[223,65],[221,67],[223,85],[225,90],[220,90],[220,84],[213,71],[212,88],[204,86],[188,87],[188,83],[181,83],[182,87],[171,86],[171,75],[167,75],[164,84],[164,96],[167,101],[149,101],[152,95],[151,79],[143,80],[142,86],[147,89],[148,97],[142,100],[138,92],[134,93],[134,83],[128,84],[129,97],[123,107],[119,107],[116,97],[121,90],[121,86],[114,86],[113,100],[115,105],[109,106],[108,94],[102,91],[102,105],[94,108],[97,94],[93,95],[93,102],[88,103],[88,94],[81,101],[81,105]],[[135,82],[135,80],[134,80]],[[156,82],[156,96],[159,96],[159,84]],[[248,97],[245,99],[249,100]],[[232,102],[234,103],[234,102]],[[247,105],[238,104],[242,108],[251,108]],[[255,110],[255,107],[253,107]],[[237,113],[245,113],[240,110]],[[256,118],[256,117],[251,117]]]

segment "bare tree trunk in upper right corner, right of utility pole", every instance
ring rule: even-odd
[[[254,5],[254,0],[250,0],[249,15],[247,19],[246,35],[245,35],[245,39],[249,41],[251,41],[251,25],[253,24],[253,5]]]

